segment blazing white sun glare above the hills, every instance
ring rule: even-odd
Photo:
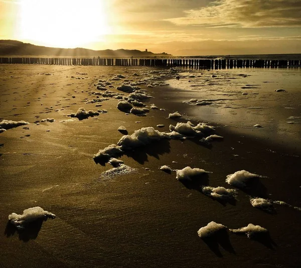
[[[21,0],[20,8],[22,40],[75,48],[110,32],[105,0]]]

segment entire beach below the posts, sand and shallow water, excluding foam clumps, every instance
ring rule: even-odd
[[[300,266],[299,68],[16,64],[0,71],[0,120],[29,123],[0,133],[2,267]],[[116,108],[130,94],[121,85],[142,90],[146,97],[137,102],[146,105],[145,115]],[[74,117],[80,108],[94,115]],[[169,118],[175,112],[182,117]],[[187,121],[206,123],[223,138],[208,143],[168,134],[170,125]],[[147,127],[165,134],[122,147],[116,158],[124,163],[114,169],[95,155],[118,143],[120,126],[128,135]],[[178,180],[176,170],[187,166],[210,172],[204,185],[235,189],[236,198],[216,200],[199,184]],[[256,187],[226,182],[239,170],[260,175]],[[254,197],[285,204],[267,213],[251,205]],[[36,206],[56,218],[25,231],[8,221],[12,212]],[[198,230],[211,221],[229,229],[253,223],[269,236],[228,232],[204,240]]]

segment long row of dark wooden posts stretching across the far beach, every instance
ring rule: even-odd
[[[92,65],[92,66],[160,66],[207,69],[278,68],[300,66],[299,60],[213,60],[213,59],[108,59],[104,58],[0,58],[0,64]]]

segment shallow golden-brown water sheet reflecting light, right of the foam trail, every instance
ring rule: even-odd
[[[188,70],[180,76],[169,80],[183,90],[177,91],[177,98],[207,102],[187,104],[192,106],[187,108],[190,116],[301,150],[300,68]],[[262,128],[254,128],[256,124]]]

